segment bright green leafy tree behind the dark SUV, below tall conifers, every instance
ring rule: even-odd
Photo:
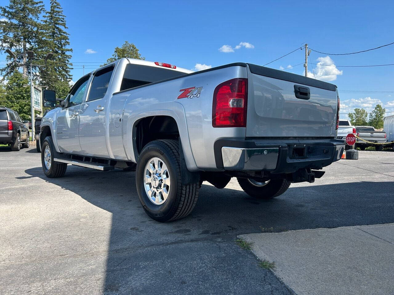
[[[30,121],[30,87],[24,86],[28,83],[28,79],[22,73],[13,72],[8,76],[8,82],[4,87],[5,101],[0,104],[16,111],[22,120]]]

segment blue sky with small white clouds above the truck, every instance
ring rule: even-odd
[[[390,1],[380,1],[379,5],[375,1],[59,2],[74,50],[71,61],[85,65],[85,73],[105,62],[114,47],[126,40],[149,61],[188,69],[195,69],[196,64],[214,67],[237,61],[264,65],[305,42],[327,53],[355,52],[394,42],[394,4]],[[44,3],[49,7],[49,1]],[[337,66],[379,65],[394,63],[393,53],[394,44],[344,56],[327,57],[312,51],[310,61]],[[304,51],[297,50],[268,66],[287,68],[304,59]],[[349,111],[345,106],[369,107],[379,102],[391,107],[387,111],[394,111],[394,66],[313,67],[315,75],[331,80],[340,90],[393,91],[342,92],[341,113]],[[310,65],[309,70],[312,72]],[[303,74],[304,68],[301,64],[287,71]],[[82,76],[82,67],[76,66],[72,75],[76,81]]]

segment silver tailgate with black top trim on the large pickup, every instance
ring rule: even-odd
[[[246,136],[335,137],[335,85],[262,66],[249,70]],[[296,98],[297,87],[309,89],[310,98]]]

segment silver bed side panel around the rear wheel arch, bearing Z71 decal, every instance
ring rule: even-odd
[[[212,100],[217,85],[236,77],[247,78],[246,67],[231,66],[149,85],[116,94],[123,103],[123,144],[126,158],[136,162],[133,127],[146,116],[169,115],[178,124],[186,165],[190,171],[217,170],[214,142],[219,138],[245,138],[245,128],[213,128]],[[202,87],[199,97],[180,98],[181,89]]]

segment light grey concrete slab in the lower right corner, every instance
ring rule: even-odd
[[[298,295],[394,294],[394,223],[240,237]]]

